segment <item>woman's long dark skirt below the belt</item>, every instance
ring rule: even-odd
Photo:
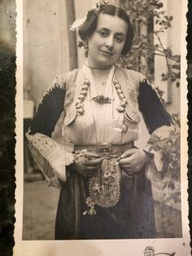
[[[94,215],[83,215],[88,179],[73,174],[63,183],[55,223],[55,239],[155,238],[154,201],[151,182],[140,171],[134,179],[122,176],[116,206],[95,206]],[[76,187],[76,188],[75,188]],[[75,191],[76,190],[76,191]]]

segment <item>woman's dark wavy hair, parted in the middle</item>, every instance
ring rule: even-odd
[[[100,13],[112,16],[116,15],[120,19],[124,20],[126,24],[128,24],[127,37],[125,38],[124,48],[121,52],[122,55],[126,55],[130,51],[133,42],[133,25],[131,24],[129,15],[120,7],[115,7],[113,5],[103,5],[99,12],[94,10],[89,11],[85,23],[81,29],[79,29],[81,40],[87,40],[94,33],[98,24],[98,15]]]

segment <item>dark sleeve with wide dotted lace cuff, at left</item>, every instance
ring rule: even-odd
[[[66,166],[73,161],[72,152],[68,150],[62,135],[65,90],[63,76],[56,77],[43,95],[26,134],[28,148],[37,166],[46,181],[55,187],[59,187],[58,178],[66,181]],[[55,126],[60,133],[60,142],[52,138]]]

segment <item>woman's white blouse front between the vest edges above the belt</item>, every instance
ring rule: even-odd
[[[124,144],[138,139],[139,123],[129,121],[124,118],[124,113],[117,110],[120,98],[112,83],[116,76],[115,69],[115,66],[112,66],[104,90],[104,96],[111,99],[111,104],[97,104],[93,99],[97,96],[96,82],[91,69],[84,65],[83,72],[90,82],[88,94],[83,102],[84,113],[77,114],[72,124],[64,127],[66,141],[73,145],[96,145]]]

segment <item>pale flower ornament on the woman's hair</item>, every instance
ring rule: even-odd
[[[102,2],[97,2],[96,3],[96,7],[94,9],[91,9],[90,11],[94,11],[95,13],[99,13],[103,6],[106,6],[108,3],[108,1],[102,1]],[[77,18],[75,21],[73,21],[73,23],[71,25],[69,25],[69,30],[71,31],[76,31],[81,29],[81,27],[84,25],[85,20],[87,19],[87,15],[88,15],[89,11],[87,11],[84,15],[82,15],[81,17]]]

